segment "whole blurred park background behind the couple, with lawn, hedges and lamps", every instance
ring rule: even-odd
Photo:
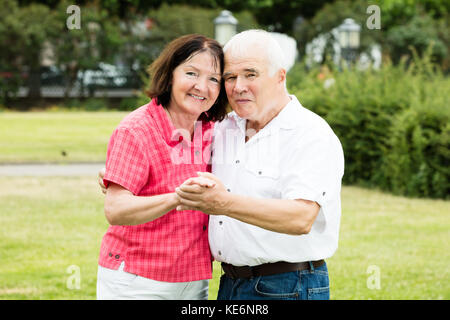
[[[147,67],[181,35],[223,44],[253,28],[273,33],[288,91],[344,148],[332,298],[450,298],[449,1],[0,4],[0,298],[95,298],[96,172],[149,101]]]

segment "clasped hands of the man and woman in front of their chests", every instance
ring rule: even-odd
[[[228,205],[228,191],[223,183],[209,172],[198,172],[175,189],[181,205],[177,210],[198,210],[207,214],[224,214]]]

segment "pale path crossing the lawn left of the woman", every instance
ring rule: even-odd
[[[91,176],[97,175],[105,163],[70,164],[1,164],[0,177],[24,176]]]

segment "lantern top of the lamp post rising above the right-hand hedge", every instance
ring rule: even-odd
[[[361,27],[355,20],[348,18],[338,27],[338,32],[342,57],[347,62],[347,66],[350,66],[356,60]]]

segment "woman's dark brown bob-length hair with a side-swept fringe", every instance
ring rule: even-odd
[[[220,74],[223,74],[224,54],[222,46],[214,39],[199,34],[190,34],[179,37],[170,42],[160,56],[148,67],[150,74],[150,87],[146,91],[152,99],[167,108],[170,103],[171,82],[173,71],[192,55],[209,51],[214,57],[215,64],[220,66]],[[220,93],[213,106],[200,115],[202,121],[221,121],[226,115],[228,104],[224,82],[220,81]]]

